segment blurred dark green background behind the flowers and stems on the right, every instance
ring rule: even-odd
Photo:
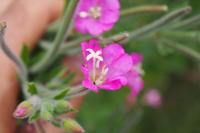
[[[200,13],[199,0],[121,0],[121,3],[122,9],[167,4],[169,11],[191,5],[192,13],[184,18]],[[166,13],[140,13],[121,17],[108,35],[137,29],[164,14]],[[200,53],[200,20],[195,25],[175,31],[180,32],[180,36],[176,37],[173,32],[169,32],[172,40]],[[181,33],[188,35],[181,36]],[[193,33],[195,36],[190,37]],[[135,39],[125,47],[128,52],[137,51],[144,55],[145,88],[131,107],[126,102],[130,93],[128,88],[116,92],[89,93],[77,116],[86,132],[199,133],[200,62],[151,39]],[[151,88],[157,89],[162,96],[159,108],[152,108],[143,102],[145,92]]]

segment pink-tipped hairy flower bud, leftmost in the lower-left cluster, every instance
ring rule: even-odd
[[[29,101],[23,101],[17,106],[17,109],[13,113],[15,118],[26,118],[28,117],[33,110],[33,105]]]

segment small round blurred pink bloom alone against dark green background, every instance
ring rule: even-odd
[[[153,108],[159,108],[162,104],[161,95],[156,89],[148,90],[144,95],[144,101]]]

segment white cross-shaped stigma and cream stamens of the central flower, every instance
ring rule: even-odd
[[[101,85],[106,80],[106,75],[108,73],[106,65],[100,66],[100,63],[103,61],[103,57],[101,56],[102,52],[100,50],[95,52],[93,49],[86,49],[86,51],[89,52],[86,60],[89,61],[92,59],[90,79],[95,85]]]

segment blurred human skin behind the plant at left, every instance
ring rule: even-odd
[[[63,0],[1,0],[0,21],[6,21],[5,39],[9,47],[19,55],[26,42],[33,48],[48,25],[62,13]],[[0,50],[0,133],[15,133],[16,120],[12,113],[19,94],[15,65]],[[73,101],[79,106],[80,100]],[[48,133],[61,133],[48,123],[43,125]]]

